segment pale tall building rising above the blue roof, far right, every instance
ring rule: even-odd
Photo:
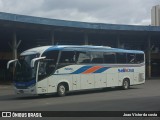
[[[160,26],[160,5],[153,6],[151,9],[151,25]]]

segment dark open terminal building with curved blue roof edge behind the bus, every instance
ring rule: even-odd
[[[42,45],[103,45],[143,50],[146,76],[160,77],[160,27],[86,23],[0,12],[0,80],[20,52]]]

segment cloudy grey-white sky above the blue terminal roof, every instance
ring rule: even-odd
[[[53,19],[150,25],[160,0],[0,0],[0,12]]]

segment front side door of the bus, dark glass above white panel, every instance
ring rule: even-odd
[[[51,93],[55,91],[53,74],[56,68],[59,51],[51,50],[43,53],[46,59],[39,62],[37,90],[39,93]]]

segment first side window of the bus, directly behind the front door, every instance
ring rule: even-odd
[[[75,63],[75,52],[62,51],[59,63]]]

